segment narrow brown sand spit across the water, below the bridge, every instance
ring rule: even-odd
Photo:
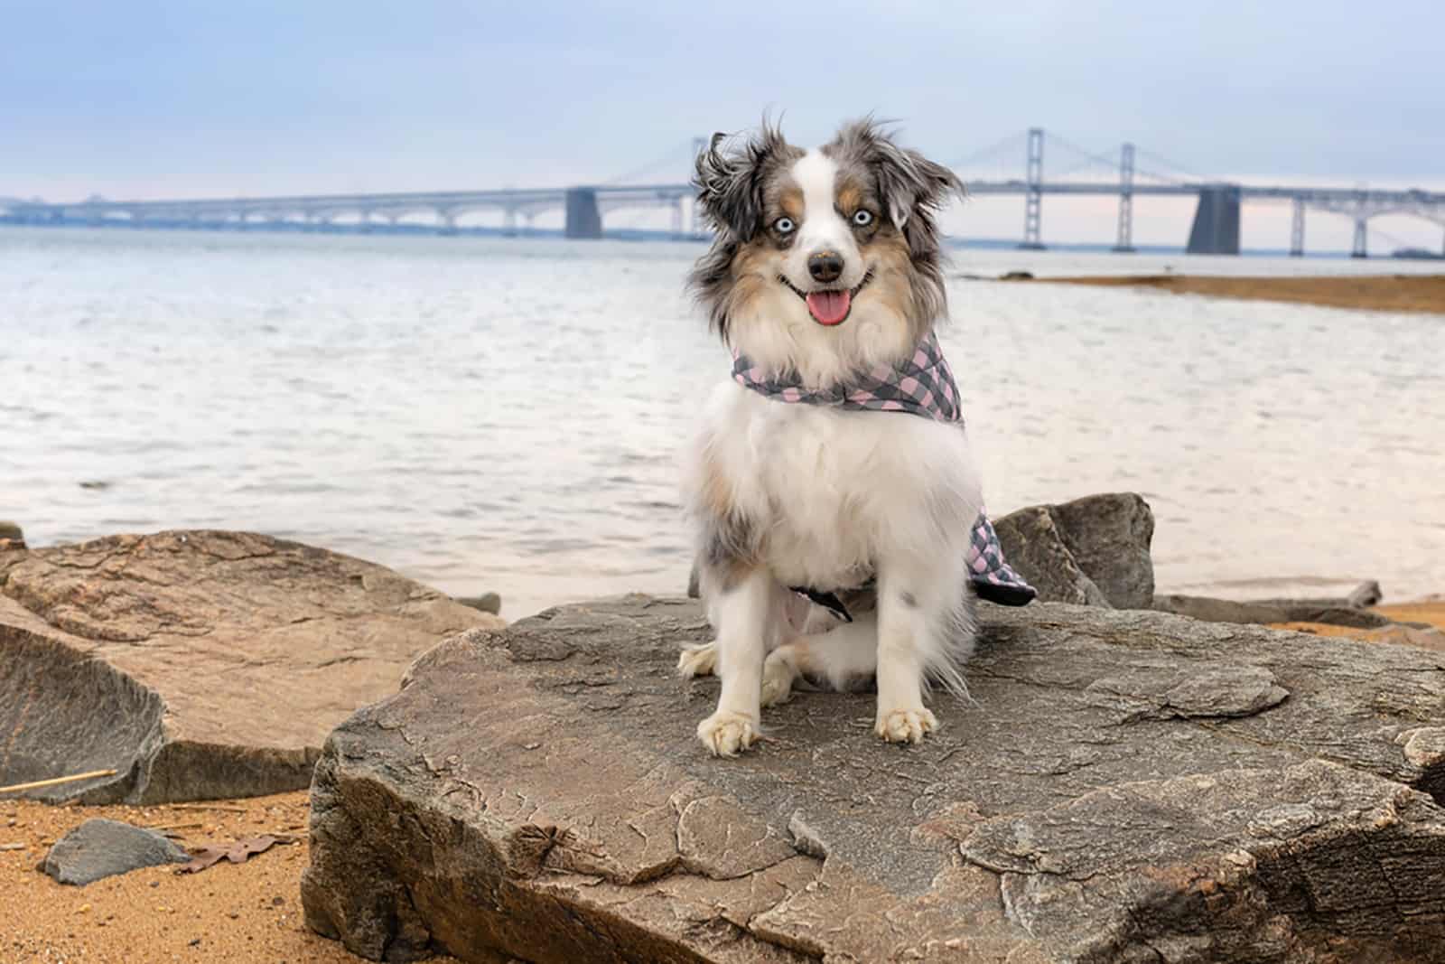
[[[1445,314],[1445,273],[1332,275],[1314,277],[1228,277],[1204,275],[1120,275],[1117,277],[1039,277],[1035,283],[1150,288],[1176,295],[1283,301],[1328,308]]]

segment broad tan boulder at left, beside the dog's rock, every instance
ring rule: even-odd
[[[438,640],[501,620],[390,569],[237,532],[0,551],[0,785],[168,802],[301,789],[327,733]]]

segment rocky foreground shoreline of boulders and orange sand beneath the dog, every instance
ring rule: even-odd
[[[0,786],[111,770],[0,791],[0,883],[26,909],[0,948],[1445,960],[1445,603],[1156,595],[1131,494],[996,525],[1040,601],[983,607],[972,698],[936,739],[883,746],[853,724],[867,695],[802,692],[733,762],[694,746],[715,684],[673,675],[708,633],[685,598],[507,626],[267,536],[26,548],[0,526]],[[85,887],[33,869],[61,876],[51,845],[91,817],[192,853],[306,827],[309,857]],[[178,858],[103,830],[133,866]],[[224,915],[195,883],[221,879]],[[184,947],[153,909],[176,906]]]

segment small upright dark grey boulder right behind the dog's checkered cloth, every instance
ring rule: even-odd
[[[994,520],[1004,556],[1048,603],[1149,608],[1155,516],[1134,493],[1029,506]]]

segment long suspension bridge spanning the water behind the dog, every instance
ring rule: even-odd
[[[90,224],[165,228],[276,228],[366,231],[373,225],[415,223],[420,217],[441,234],[458,233],[462,217],[501,215],[501,231],[532,230],[540,214],[561,211],[564,234],[603,237],[604,215],[616,211],[669,210],[673,237],[698,237],[694,191],[682,179],[663,181],[659,172],[686,171],[702,139],[678,145],[657,160],[611,181],[565,188],[507,188],[497,191],[423,191],[403,194],[335,194],[266,198],[205,198],[175,201],[108,201],[74,204],[0,198],[0,223]],[[686,152],[686,156],[682,156]],[[1049,168],[1045,166],[1048,159]],[[1143,166],[1137,163],[1144,160]],[[1368,221],[1406,214],[1445,227],[1445,192],[1368,189],[1361,186],[1302,186],[1240,184],[1192,173],[1159,155],[1121,145],[1117,155],[1081,147],[1058,134],[1032,127],[1004,137],[949,165],[971,197],[1014,195],[1023,199],[1020,247],[1043,249],[1045,195],[1117,197],[1114,250],[1133,251],[1134,198],[1194,197],[1194,223],[1186,250],[1198,254],[1238,254],[1244,204],[1290,204],[1289,253],[1305,253],[1306,211],[1344,215],[1354,221],[1351,254],[1368,254]],[[1020,171],[1022,168],[1022,171]],[[1010,176],[1013,175],[1013,176]],[[1022,175],[1022,176],[1019,176]],[[1445,254],[1445,244],[1442,244]]]

